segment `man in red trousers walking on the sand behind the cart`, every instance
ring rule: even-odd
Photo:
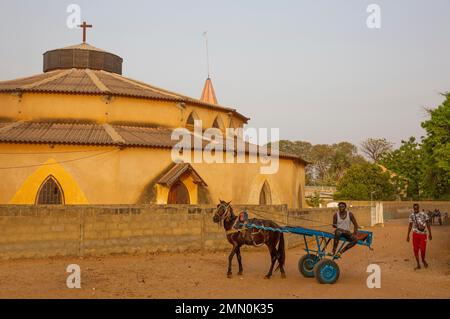
[[[432,240],[430,218],[424,212],[419,211],[419,204],[413,205],[413,212],[409,216],[408,235],[406,241],[409,242],[409,234],[411,229],[413,231],[413,249],[414,256],[416,257],[417,267],[414,270],[420,269],[419,262],[419,250],[422,257],[422,263],[425,268],[428,267],[428,263],[425,261],[425,251],[427,249],[427,228],[428,239]]]

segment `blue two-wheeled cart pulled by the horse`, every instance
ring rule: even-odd
[[[302,235],[305,241],[306,255],[302,256],[298,261],[298,269],[300,273],[308,278],[315,277],[321,284],[334,284],[339,279],[339,266],[336,260],[341,258],[340,252],[344,245],[348,242],[346,239],[341,238],[338,246],[338,250],[335,255],[327,253],[327,247],[334,239],[334,234],[324,232],[315,229],[309,229],[299,226],[284,226],[280,228],[265,227],[248,223],[245,225],[247,228],[264,229],[269,231],[276,231],[282,233],[290,233]],[[359,234],[365,237],[363,240],[358,240],[357,245],[367,246],[369,249],[372,245],[373,233],[370,231],[359,230]],[[313,238],[315,246],[312,247],[308,243],[308,238]],[[314,240],[315,239],[315,240]],[[316,248],[316,249],[314,249]]]

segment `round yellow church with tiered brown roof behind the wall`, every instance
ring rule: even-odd
[[[0,204],[305,205],[296,155],[280,153],[275,174],[260,162],[175,163],[173,129],[194,134],[201,120],[225,132],[249,118],[219,104],[209,77],[196,99],[130,79],[122,63],[84,38],[45,52],[43,73],[0,79]]]

